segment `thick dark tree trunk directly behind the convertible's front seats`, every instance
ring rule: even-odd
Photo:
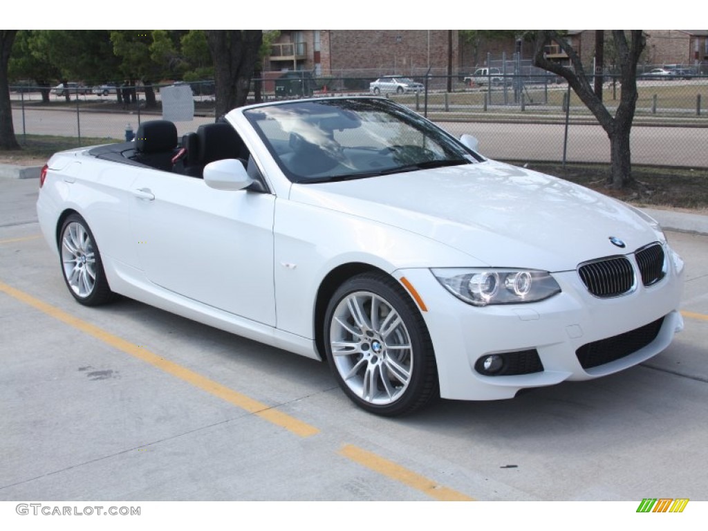
[[[207,30],[214,62],[216,115],[246,104],[263,30]]]

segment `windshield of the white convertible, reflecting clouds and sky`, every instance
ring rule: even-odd
[[[479,161],[413,111],[376,98],[263,105],[244,111],[296,183],[343,181]]]

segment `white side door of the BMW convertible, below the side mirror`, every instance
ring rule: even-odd
[[[131,191],[137,256],[151,282],[275,326],[274,195],[165,171],[141,172]]]

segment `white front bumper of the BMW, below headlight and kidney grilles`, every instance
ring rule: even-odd
[[[678,312],[683,262],[668,246],[666,251],[669,266],[661,282],[651,287],[639,285],[634,292],[608,299],[590,295],[575,270],[553,274],[562,291],[550,299],[488,307],[473,307],[455,298],[430,270],[399,270],[396,276],[411,282],[428,309],[421,313],[435,348],[442,398],[506,399],[528,387],[610,375],[667,348],[674,334],[683,329]],[[622,343],[622,338],[603,340],[633,336],[627,333],[662,318],[661,328],[651,332],[648,344],[618,359],[610,355],[608,362],[593,367],[585,362],[588,368],[583,368],[576,355],[576,350],[590,343],[595,343],[595,350],[607,348],[608,343]],[[475,369],[484,356],[528,350],[537,351],[542,370],[486,376]]]

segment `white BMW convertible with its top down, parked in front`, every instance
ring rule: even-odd
[[[683,328],[639,210],[485,159],[384,98],[251,105],[178,139],[52,156],[42,232],[81,304],[116,294],[310,358],[409,413],[610,375]]]

